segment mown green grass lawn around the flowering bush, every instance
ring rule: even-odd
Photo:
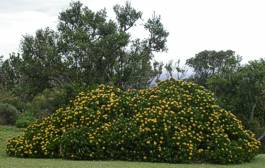
[[[214,164],[167,164],[126,161],[69,161],[61,159],[22,159],[12,158],[5,154],[7,139],[19,135],[21,129],[0,126],[0,168],[263,168],[265,154],[259,155],[251,163],[240,165]]]

